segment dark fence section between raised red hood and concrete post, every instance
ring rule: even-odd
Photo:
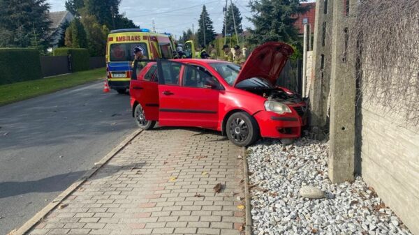
[[[302,60],[288,60],[279,75],[277,86],[282,86],[296,93],[302,93]]]

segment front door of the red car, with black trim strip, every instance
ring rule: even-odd
[[[164,77],[159,79],[159,124],[215,129],[221,88],[216,78],[186,63],[158,61],[157,66]]]

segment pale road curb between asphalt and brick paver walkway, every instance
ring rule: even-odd
[[[116,146],[114,149],[112,149],[105,157],[103,157],[100,161],[96,162],[94,167],[87,170],[84,175],[78,179],[78,181],[75,181],[70,187],[68,187],[64,192],[61,192],[58,197],[56,197],[50,204],[47,204],[41,211],[36,213],[34,217],[32,217],[30,220],[24,223],[22,227],[17,229],[15,232],[10,232],[8,235],[24,235],[27,232],[29,232],[30,229],[32,229],[40,220],[42,220],[45,215],[50,213],[53,209],[55,209],[68,195],[70,195],[74,190],[76,190],[82,183],[87,181],[94,173],[98,171],[98,169],[101,169],[103,165],[105,165],[110,159],[112,159],[117,153],[119,153],[126,145],[128,145],[135,137],[140,135],[142,130],[135,130],[131,135],[128,135],[126,139],[124,139],[118,146]]]

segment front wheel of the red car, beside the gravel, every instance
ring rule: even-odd
[[[259,139],[258,123],[246,112],[232,114],[226,123],[227,137],[237,146],[249,146]]]

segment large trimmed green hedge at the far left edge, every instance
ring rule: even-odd
[[[42,77],[38,50],[0,48],[0,85]]]

